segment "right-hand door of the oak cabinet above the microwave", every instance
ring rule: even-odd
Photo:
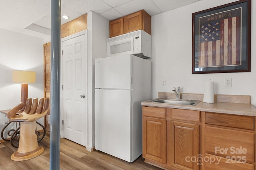
[[[124,16],[124,33],[142,29],[142,11]]]

